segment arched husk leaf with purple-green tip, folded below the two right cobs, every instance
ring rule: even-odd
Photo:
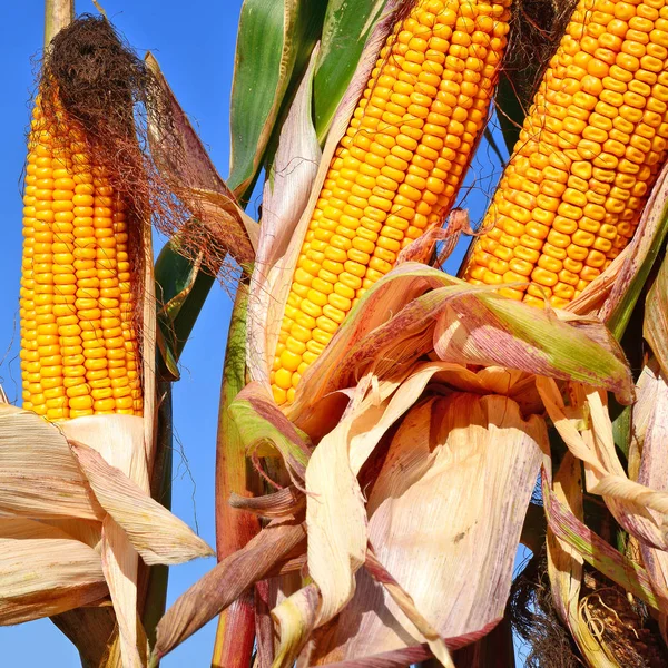
[[[370,367],[382,377],[431,350],[459,364],[581,379],[625,402],[632,395],[623,354],[601,323],[540,312],[405,263],[362,297],[305,372],[286,414],[296,420],[326,394],[354,386]]]

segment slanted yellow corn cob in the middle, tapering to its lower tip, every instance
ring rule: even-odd
[[[419,0],[382,49],[298,258],[272,386],[306,367],[400,250],[453,205],[505,47],[510,0]]]

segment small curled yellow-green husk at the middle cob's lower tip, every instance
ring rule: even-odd
[[[305,436],[278,410],[266,389],[248,383],[229,406],[248,455],[281,454],[293,482],[304,480],[310,448]]]

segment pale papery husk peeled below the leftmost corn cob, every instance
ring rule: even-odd
[[[50,540],[36,543],[14,562],[20,580],[33,569],[43,571],[43,582],[33,579],[41,598],[36,591],[29,612],[24,612],[21,605],[11,602],[23,596],[22,590],[8,584],[0,606],[2,623],[23,621],[26,615],[33,619],[62,613],[110,593],[122,665],[145,665],[137,651],[138,551],[147,563],[177,563],[212,553],[202,539],[148,495],[145,432],[146,419],[131,415],[50,424],[32,412],[0,405],[0,488],[9,490],[0,499],[0,522],[14,527],[27,522],[50,532]],[[20,453],[33,464],[27,479],[21,478]],[[28,508],[22,498],[26,484],[32,498]],[[21,513],[35,513],[41,521]],[[70,573],[71,579],[72,559],[82,559],[77,554],[87,556],[88,561],[76,571],[79,582],[71,584],[62,573]],[[0,567],[11,563],[7,559],[0,560]],[[51,566],[47,568],[47,563]],[[49,574],[55,583],[46,577]],[[60,579],[65,579],[63,586]],[[59,593],[59,588],[65,588],[65,593]]]

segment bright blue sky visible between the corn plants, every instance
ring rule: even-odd
[[[0,248],[0,383],[11,401],[19,394],[18,292],[21,261],[21,185],[33,85],[31,58],[42,46],[43,0],[0,3],[2,90],[0,127],[0,200],[7,207]],[[184,109],[196,122],[210,155],[225,176],[229,160],[229,92],[236,27],[242,0],[102,0],[107,16],[140,55],[151,50]],[[79,12],[95,13],[91,0],[77,0]],[[492,174],[499,164],[483,145],[468,181],[475,179],[465,205],[478,222]],[[465,190],[463,190],[464,193]],[[156,244],[159,247],[159,243]],[[461,247],[446,268],[454,269]],[[176,383],[174,512],[215,544],[214,464],[218,395],[232,302],[215,286],[181,358]],[[198,560],[171,569],[169,603],[214,566]],[[206,666],[210,661],[215,622],[209,623],[164,661],[165,668]],[[78,666],[73,646],[49,620],[0,628],[2,665],[37,668],[45,657],[51,668]]]

